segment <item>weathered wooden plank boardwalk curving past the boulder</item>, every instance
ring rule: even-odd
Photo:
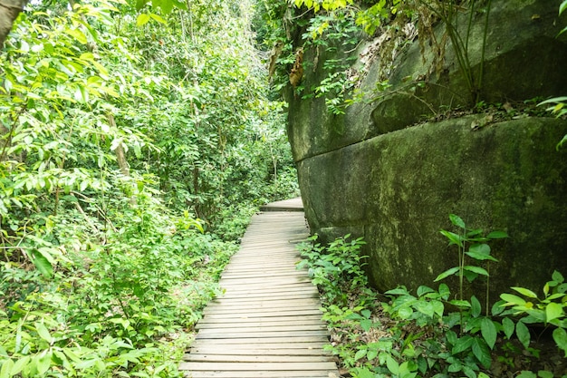
[[[180,369],[186,377],[338,377],[319,294],[297,270],[295,243],[308,237],[301,199],[256,214],[207,305]]]

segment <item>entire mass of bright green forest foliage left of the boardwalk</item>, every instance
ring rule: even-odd
[[[249,215],[296,194],[249,4],[171,4],[31,4],[6,41],[2,378],[180,376]]]

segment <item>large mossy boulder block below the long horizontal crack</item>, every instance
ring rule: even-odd
[[[456,247],[439,233],[457,231],[450,213],[471,228],[509,234],[492,246],[500,260],[491,267],[493,298],[565,272],[567,151],[555,145],[567,122],[526,118],[478,131],[472,122],[427,123],[301,161],[312,229],[326,240],[365,237],[380,289],[431,285],[457,265]]]

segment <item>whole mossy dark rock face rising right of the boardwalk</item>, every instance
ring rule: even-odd
[[[567,20],[556,19],[553,2],[517,3],[493,0],[483,98],[504,103],[567,94],[567,42],[555,38]],[[482,30],[477,24],[471,35],[473,67],[480,64]],[[422,87],[357,102],[342,115],[331,114],[323,98],[288,95],[288,135],[306,216],[324,239],[365,237],[370,280],[386,290],[432,286],[457,265],[455,247],[439,233],[454,230],[447,218],[454,213],[467,226],[510,236],[492,245],[500,260],[491,267],[492,299],[510,286],[539,291],[553,269],[567,275],[567,150],[555,150],[567,121],[516,117],[473,130],[485,115],[471,115],[412,126],[467,103],[463,76],[447,51],[445,69]],[[345,58],[324,55],[306,50],[304,62]],[[428,71],[417,42],[394,67],[394,89]],[[377,59],[361,82],[368,98],[376,97],[381,70]],[[305,70],[304,87],[322,77],[321,69]]]

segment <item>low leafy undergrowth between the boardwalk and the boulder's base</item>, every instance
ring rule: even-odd
[[[543,297],[523,287],[503,294],[489,309],[464,298],[462,286],[487,279],[494,261],[488,242],[506,237],[468,229],[452,215],[456,232],[443,230],[458,249],[458,266],[437,276],[457,276],[447,284],[404,286],[384,294],[370,288],[363,270],[365,244],[350,235],[323,247],[317,236],[300,247],[313,284],[322,298],[322,318],[331,330],[327,348],[340,359],[341,375],[380,377],[567,377],[567,284],[557,271],[543,287]],[[489,282],[485,282],[489,285]],[[460,293],[460,295],[459,295]],[[455,310],[456,309],[456,310]],[[533,337],[535,335],[536,337]]]

